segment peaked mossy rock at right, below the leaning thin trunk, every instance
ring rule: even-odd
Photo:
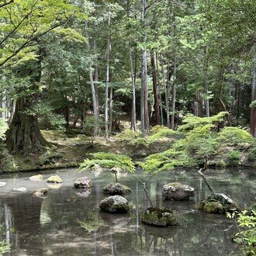
[[[228,212],[240,212],[240,207],[230,197],[225,194],[209,195],[204,201],[200,202],[197,209],[205,213],[225,214]]]

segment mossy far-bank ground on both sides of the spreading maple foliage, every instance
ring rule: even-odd
[[[71,168],[79,167],[85,158],[96,152],[108,152],[114,154],[126,154],[134,161],[144,160],[150,154],[167,150],[171,147],[171,139],[163,138],[148,147],[138,147],[123,143],[115,135],[109,137],[106,142],[104,137],[96,137],[92,144],[92,137],[83,134],[67,135],[57,130],[41,130],[43,137],[50,143],[50,147],[41,154],[9,154],[5,149],[4,159],[1,159],[0,172],[32,171],[50,168]],[[209,159],[209,165],[218,168],[226,166],[256,167],[256,159],[250,160],[247,157],[248,147],[240,150],[240,159],[231,159],[231,151],[240,150],[236,147],[221,147],[213,159]],[[256,151],[256,149],[254,150]]]

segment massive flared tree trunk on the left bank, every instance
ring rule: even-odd
[[[36,154],[48,145],[40,133],[37,116],[26,114],[29,107],[31,107],[30,98],[17,99],[12,123],[6,133],[6,144],[12,152]]]

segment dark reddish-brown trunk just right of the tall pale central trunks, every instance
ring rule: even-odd
[[[158,85],[157,85],[157,71],[156,65],[154,61],[154,51],[151,50],[150,52],[150,62],[151,62],[151,72],[153,78],[153,92],[154,92],[154,113],[156,117],[157,125],[161,124],[160,121],[160,111],[159,111],[159,92],[158,92]]]

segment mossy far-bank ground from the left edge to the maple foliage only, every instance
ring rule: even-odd
[[[104,137],[96,137],[92,144],[92,137],[82,134],[67,136],[57,130],[41,130],[41,133],[50,143],[50,147],[47,147],[42,154],[27,156],[11,155],[5,150],[2,172],[78,167],[85,158],[90,157],[90,154],[100,151],[126,154],[135,160],[157,153],[155,145],[154,147],[131,147],[117,140],[115,136],[109,137],[108,142]],[[161,147],[161,150],[168,149],[169,145],[169,140],[161,140],[157,143],[157,147]]]

